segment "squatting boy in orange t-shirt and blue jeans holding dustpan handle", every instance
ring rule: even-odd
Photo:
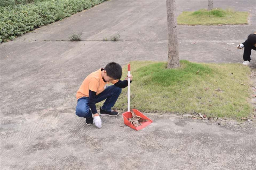
[[[121,88],[128,86],[128,75],[124,81],[121,81],[122,67],[110,62],[104,69],[99,69],[88,75],[77,91],[77,107],[76,115],[84,117],[87,125],[95,125],[101,128],[100,116],[117,116],[118,112],[111,110],[117,98],[121,93]],[[130,75],[130,83],[132,75]],[[111,82],[114,85],[107,86]],[[103,106],[100,107],[99,114],[95,103],[105,100]],[[91,109],[90,109],[91,108]],[[92,117],[93,114],[93,117]]]

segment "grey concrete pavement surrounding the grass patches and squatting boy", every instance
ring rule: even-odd
[[[176,3],[178,14],[208,4]],[[243,62],[236,44],[256,32],[255,1],[214,6],[250,10],[250,24],[179,25],[180,59]],[[167,61],[166,31],[165,0],[113,0],[2,43],[0,169],[253,170],[255,123],[146,113],[154,123],[137,132],[123,127],[121,115],[103,117],[101,129],[75,115],[76,91],[92,71],[111,61]],[[82,32],[83,41],[67,41],[72,32]],[[117,32],[121,41],[102,41]]]

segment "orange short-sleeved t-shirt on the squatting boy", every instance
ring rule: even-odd
[[[77,91],[77,100],[81,97],[89,97],[89,90],[96,92],[99,95],[105,90],[109,82],[104,82],[101,71],[104,69],[99,69],[91,74],[89,74],[83,81],[82,85]],[[115,84],[118,80],[113,80],[111,83]]]

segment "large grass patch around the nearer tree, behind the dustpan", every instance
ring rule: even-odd
[[[134,77],[131,108],[142,112],[202,113],[207,117],[250,115],[249,67],[185,60],[181,60],[180,65],[178,69],[166,69],[166,62],[131,62]],[[123,68],[123,75],[126,72],[127,66]],[[223,91],[216,91],[218,88]],[[127,88],[123,89],[114,108],[127,110]]]

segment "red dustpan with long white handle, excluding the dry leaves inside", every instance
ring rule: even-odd
[[[131,66],[130,64],[128,64],[128,111],[127,112],[124,112],[122,115],[123,115],[123,118],[124,118],[124,124],[129,126],[130,128],[133,128],[135,130],[140,130],[140,129],[143,129],[145,128],[146,126],[150,125],[153,121],[151,119],[149,119],[147,116],[145,116],[144,114],[142,114],[140,111],[138,111],[137,109],[132,109],[133,112],[137,115],[137,116],[140,116],[144,119],[147,119],[149,121],[145,121],[145,122],[141,122],[142,125],[138,126],[138,127],[135,127],[133,126],[133,124],[128,120],[129,118],[132,117],[132,113],[130,112],[130,70],[131,70]]]

